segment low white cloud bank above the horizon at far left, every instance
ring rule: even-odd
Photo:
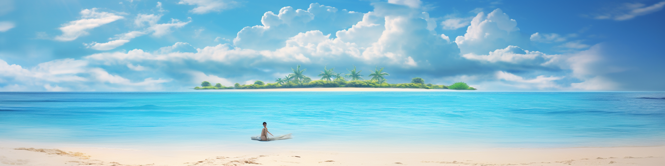
[[[0,83],[7,84],[3,90],[29,91],[86,91],[103,90],[145,91],[163,90],[160,84],[171,80],[145,78],[133,82],[116,74],[109,74],[103,68],[89,66],[87,60],[72,58],[51,60],[34,68],[23,68],[17,64],[7,64],[0,60]],[[55,86],[54,86],[55,85]]]

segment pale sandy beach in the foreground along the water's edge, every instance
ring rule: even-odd
[[[442,153],[133,151],[0,148],[0,165],[665,165],[665,147],[492,149]],[[71,151],[71,152],[70,152]],[[84,155],[71,155],[72,153]],[[78,153],[78,154],[80,154]]]

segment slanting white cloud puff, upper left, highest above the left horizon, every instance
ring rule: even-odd
[[[124,19],[124,17],[115,15],[114,13],[107,12],[97,12],[96,8],[92,9],[83,9],[81,14],[81,19],[77,21],[70,21],[60,27],[60,31],[63,31],[63,35],[55,37],[57,41],[73,41],[74,39],[88,35],[89,29],[94,29],[102,25],[111,23],[118,19]]]

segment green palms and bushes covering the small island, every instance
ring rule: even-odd
[[[220,83],[215,84],[214,86],[207,81],[201,82],[201,87],[196,86],[195,90],[224,90],[224,89],[273,89],[273,88],[422,88],[422,89],[451,89],[451,90],[476,90],[475,88],[467,85],[464,82],[455,82],[450,86],[445,85],[435,85],[435,84],[425,84],[425,80],[422,78],[413,78],[411,83],[404,84],[389,84],[384,78],[384,76],[390,76],[390,74],[383,72],[384,68],[376,68],[368,76],[372,76],[370,80],[365,80],[362,78],[363,75],[360,74],[362,70],[356,71],[356,66],[353,66],[353,70],[348,70],[349,74],[334,72],[334,68],[327,69],[323,68],[321,74],[321,80],[312,80],[308,76],[305,76],[303,72],[307,70],[300,69],[298,65],[293,70],[293,73],[285,76],[284,78],[275,79],[275,83],[265,83],[261,80],[257,80],[254,84],[241,85],[235,83],[233,86],[223,86]],[[334,78],[334,79],[333,79]],[[348,79],[347,79],[348,78]]]

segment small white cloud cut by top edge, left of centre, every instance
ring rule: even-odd
[[[196,7],[190,11],[196,14],[205,14],[212,11],[231,9],[239,5],[237,1],[230,0],[180,0],[178,4],[196,5]]]

